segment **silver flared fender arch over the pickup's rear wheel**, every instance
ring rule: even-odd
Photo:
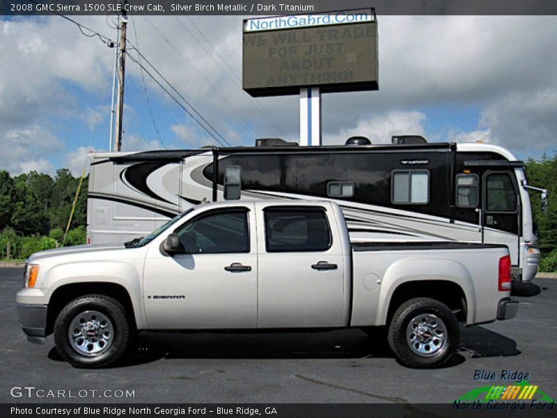
[[[395,261],[387,268],[379,294],[375,325],[386,325],[389,304],[398,286],[409,281],[427,280],[451,281],[460,286],[466,297],[466,323],[473,323],[476,295],[469,270],[462,263],[446,258],[412,257]]]

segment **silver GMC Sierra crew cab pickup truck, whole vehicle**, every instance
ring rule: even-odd
[[[402,364],[431,367],[465,325],[513,318],[506,247],[350,242],[336,203],[235,201],[141,240],[33,254],[17,293],[30,341],[74,366],[116,362],[141,330],[386,326]]]

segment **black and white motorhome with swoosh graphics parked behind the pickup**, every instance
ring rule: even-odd
[[[203,201],[329,199],[353,242],[457,241],[508,246],[512,276],[538,269],[524,162],[501,146],[393,137],[370,144],[256,146],[93,153],[90,244],[148,235]]]

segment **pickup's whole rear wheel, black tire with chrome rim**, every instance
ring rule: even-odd
[[[418,297],[404,302],[395,311],[388,338],[391,350],[402,364],[427,369],[443,364],[455,353],[460,329],[455,314],[445,304]]]

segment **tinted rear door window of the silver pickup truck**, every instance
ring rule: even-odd
[[[323,209],[267,208],[267,252],[325,251],[331,247],[331,231]]]

